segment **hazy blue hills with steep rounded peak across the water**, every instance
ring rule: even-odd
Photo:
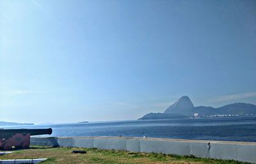
[[[194,107],[188,96],[182,96],[178,101],[166,108],[163,113],[150,113],[140,119],[173,119],[181,117],[230,117],[255,116],[256,105],[250,103],[232,103],[219,108]]]

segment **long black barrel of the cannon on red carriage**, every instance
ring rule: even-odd
[[[9,137],[16,133],[30,133],[30,135],[51,135],[52,128],[48,129],[0,129],[0,138]]]

